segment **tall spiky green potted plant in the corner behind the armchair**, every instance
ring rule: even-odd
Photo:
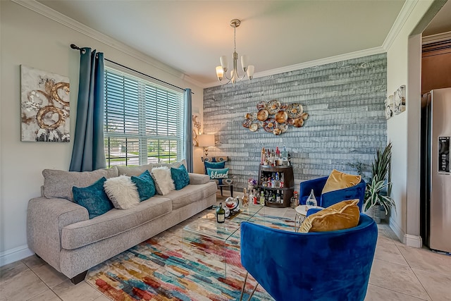
[[[370,216],[372,215],[371,217],[376,223],[381,223],[381,206],[385,210],[385,214],[388,214],[391,207],[396,210],[395,201],[389,196],[392,183],[385,182],[390,168],[391,150],[392,143],[390,142],[383,151],[381,149],[376,151],[376,156],[371,164],[371,180],[366,183],[364,211]]]

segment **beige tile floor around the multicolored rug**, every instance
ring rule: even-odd
[[[218,195],[218,201],[225,197]],[[294,219],[294,209],[265,208],[266,214]],[[366,301],[451,300],[451,256],[403,245],[386,224],[379,236]],[[108,301],[82,282],[73,285],[35,256],[0,269],[0,301]]]

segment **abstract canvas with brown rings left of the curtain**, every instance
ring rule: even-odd
[[[69,78],[20,66],[22,141],[69,142]]]

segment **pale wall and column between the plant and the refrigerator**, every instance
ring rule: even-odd
[[[390,226],[397,236],[415,247],[421,246],[419,237],[419,116],[421,69],[412,68],[412,60],[421,60],[421,39],[409,36],[433,1],[418,1],[402,30],[387,52],[387,92],[393,93],[407,85],[406,111],[388,120],[387,137],[393,142],[392,197],[397,212],[392,211]],[[409,39],[410,49],[409,52]],[[412,49],[416,47],[417,49]],[[418,57],[418,51],[420,56]],[[419,62],[421,63],[421,61]],[[417,65],[418,66],[418,65]],[[410,69],[409,69],[410,67]],[[421,83],[421,82],[420,82]]]

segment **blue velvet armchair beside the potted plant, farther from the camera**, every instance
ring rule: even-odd
[[[340,190],[334,190],[321,194],[324,185],[326,185],[326,180],[328,177],[316,178],[313,180],[306,180],[301,182],[299,185],[299,204],[305,204],[305,201],[310,195],[313,189],[318,206],[329,207],[330,205],[336,204],[341,201],[346,201],[348,199],[359,199],[360,211],[362,212],[362,207],[364,206],[364,196],[366,183],[362,179],[359,184],[352,186],[350,188],[344,188]]]

